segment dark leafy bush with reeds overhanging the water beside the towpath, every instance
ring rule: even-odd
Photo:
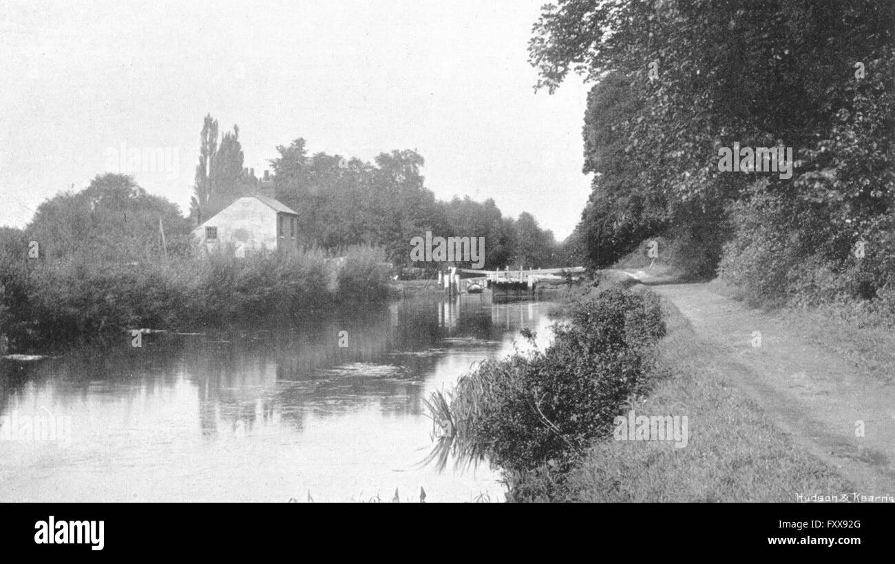
[[[649,387],[665,323],[656,295],[612,288],[578,298],[554,331],[544,351],[486,361],[452,391],[432,394],[432,418],[448,432],[430,461],[487,457],[511,486],[541,466],[568,468]]]

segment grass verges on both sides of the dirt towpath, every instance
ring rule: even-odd
[[[716,279],[712,291],[744,299]],[[854,364],[868,379],[891,380],[895,334],[891,311],[855,302],[776,310],[784,327]],[[851,491],[830,466],[780,432],[762,406],[735,388],[713,346],[670,303],[668,334],[658,347],[657,380],[632,397],[638,414],[689,414],[689,443],[598,440],[567,473],[541,468],[516,488],[518,500],[787,501],[794,492]]]

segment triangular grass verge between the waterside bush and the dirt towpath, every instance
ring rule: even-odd
[[[625,411],[689,415],[689,440],[599,440],[567,473],[526,476],[517,500],[794,501],[794,492],[851,491],[829,466],[768,423],[762,407],[734,388],[712,346],[663,303],[664,374]]]

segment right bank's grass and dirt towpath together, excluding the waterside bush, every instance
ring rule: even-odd
[[[751,310],[712,292],[717,286],[650,287],[662,296],[668,327],[660,377],[622,410],[686,417],[686,447],[596,440],[569,471],[525,476],[516,500],[893,494],[895,336],[821,310]]]

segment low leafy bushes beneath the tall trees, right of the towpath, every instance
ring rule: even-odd
[[[822,211],[765,192],[732,206],[721,280],[757,306],[864,303],[895,322],[895,219],[836,230]]]

